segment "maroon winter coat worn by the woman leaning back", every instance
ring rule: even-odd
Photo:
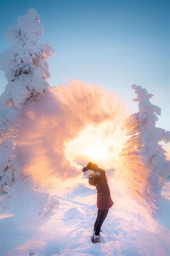
[[[95,177],[89,178],[89,184],[95,186],[98,192],[97,207],[99,210],[107,210],[111,208],[114,203],[110,196],[107,179],[105,178],[105,170],[93,167],[92,171],[101,173],[99,176],[96,175]]]

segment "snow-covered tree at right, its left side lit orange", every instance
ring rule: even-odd
[[[166,151],[159,142],[170,142],[170,132],[156,127],[161,109],[150,103],[152,94],[141,86],[132,85],[139,111],[124,122],[130,138],[121,152],[124,161],[124,177],[128,188],[143,198],[152,214],[156,213],[156,202],[169,171]]]

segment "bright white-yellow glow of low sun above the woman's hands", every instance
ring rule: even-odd
[[[76,139],[66,143],[65,154],[70,163],[85,166],[88,162],[93,162],[104,170],[119,167],[119,153],[127,136],[119,123],[114,129],[113,125],[112,121],[97,126],[89,125]]]

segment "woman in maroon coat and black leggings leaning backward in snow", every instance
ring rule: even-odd
[[[97,165],[89,162],[86,167],[82,169],[83,172],[92,170],[93,173],[89,173],[86,178],[89,179],[89,184],[93,185],[97,189],[97,207],[98,215],[94,224],[93,237],[91,241],[93,243],[100,243],[100,228],[105,220],[109,208],[111,208],[114,203],[110,196],[110,189],[107,182],[107,176],[103,169],[98,168]]]

